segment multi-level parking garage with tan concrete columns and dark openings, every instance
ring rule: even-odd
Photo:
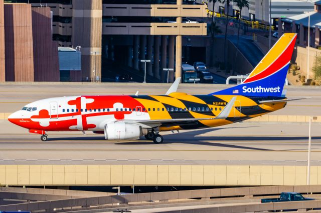
[[[186,4],[185,0],[29,2],[35,7],[42,4],[51,8],[53,39],[59,46],[81,46],[83,80],[108,77],[106,61],[142,72],[144,66],[139,61],[145,58],[152,61],[146,65],[148,75],[159,79],[164,75],[163,68],[176,67],[176,75],[180,76],[182,36],[207,34],[206,23],[182,23],[182,17],[206,16],[207,6]],[[173,80],[174,71],[170,72]]]

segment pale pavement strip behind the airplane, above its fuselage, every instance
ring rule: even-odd
[[[231,85],[222,84],[180,84],[178,91],[190,94],[209,94]],[[167,83],[35,83],[0,84],[0,112],[14,112],[27,103],[48,97],[69,95],[107,94],[165,94]],[[271,114],[279,115],[321,115],[320,86],[286,86],[288,98],[311,97],[287,103],[286,107]],[[1,132],[1,130],[0,130]]]

